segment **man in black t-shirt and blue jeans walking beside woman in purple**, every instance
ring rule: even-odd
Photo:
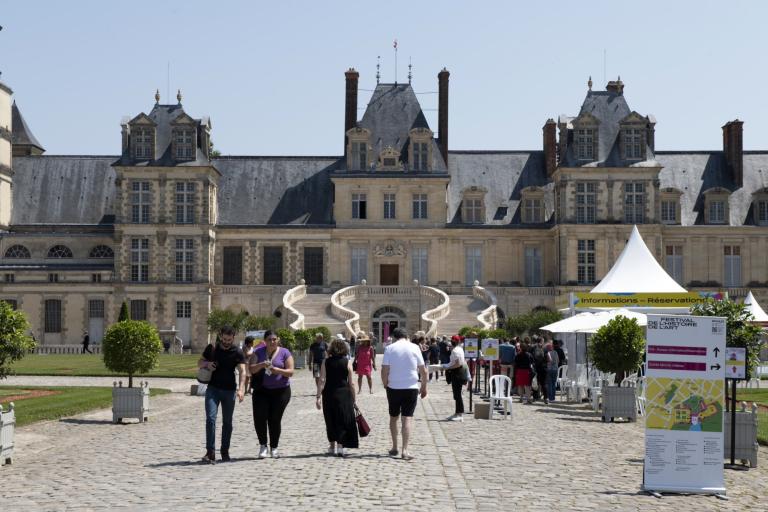
[[[198,368],[213,370],[205,391],[205,456],[203,462],[216,461],[216,416],[221,405],[221,460],[228,462],[232,439],[232,415],[235,412],[235,396],[242,402],[245,392],[245,356],[234,344],[235,330],[230,326],[219,331],[221,341],[208,345],[197,362]],[[240,375],[235,382],[235,370]]]

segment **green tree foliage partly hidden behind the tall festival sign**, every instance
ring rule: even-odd
[[[760,327],[753,324],[754,316],[744,304],[730,299],[706,299],[691,307],[695,316],[719,316],[725,318],[725,344],[728,347],[747,349],[747,379],[760,364]]]

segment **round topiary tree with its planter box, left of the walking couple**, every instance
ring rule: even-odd
[[[115,373],[128,375],[128,387],[122,381],[112,388],[112,420],[138,418],[145,422],[149,413],[149,383],[133,387],[133,376],[149,372],[157,365],[163,343],[155,326],[136,320],[125,320],[111,326],[102,341],[104,366]]]

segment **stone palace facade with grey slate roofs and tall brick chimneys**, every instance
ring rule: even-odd
[[[621,80],[590,80],[541,149],[457,151],[445,69],[436,132],[410,83],[378,83],[358,119],[359,75],[345,78],[330,157],[216,156],[181,94],[123,118],[119,155],[47,155],[0,84],[0,300],[45,345],[98,342],[128,301],[200,349],[211,308],[279,315],[302,279],[326,297],[365,280],[380,299],[361,302],[362,328],[414,327],[422,305],[396,293],[414,280],[449,297],[478,281],[502,315],[562,307],[632,225],[684,287],[765,298],[768,152],[742,149],[741,121],[722,148],[657,151]]]

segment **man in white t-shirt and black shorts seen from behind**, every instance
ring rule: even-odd
[[[408,442],[413,425],[419,391],[421,398],[427,397],[427,369],[418,345],[410,342],[408,333],[402,327],[392,332],[394,343],[384,351],[381,365],[381,382],[387,390],[389,404],[389,433],[392,435],[392,449],[389,454],[397,456],[397,419],[402,416],[403,451],[402,458],[413,459],[408,451]],[[421,384],[419,384],[421,379]]]

